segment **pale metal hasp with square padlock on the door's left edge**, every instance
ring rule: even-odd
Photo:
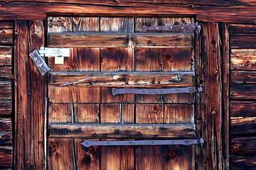
[[[40,47],[40,55],[55,57],[55,64],[64,64],[64,57],[70,57],[69,48]]]

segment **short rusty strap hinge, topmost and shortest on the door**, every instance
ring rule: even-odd
[[[187,23],[185,25],[177,25],[177,26],[146,26],[146,25],[143,25],[142,28],[143,28],[144,33],[146,33],[146,31],[148,31],[148,30],[186,32],[186,33],[193,33],[194,30],[201,30],[201,26],[195,26],[192,23]]]

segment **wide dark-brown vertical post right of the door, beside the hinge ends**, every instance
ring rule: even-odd
[[[223,169],[220,42],[218,23],[202,23],[201,61],[203,91],[201,111],[197,113],[198,136],[208,139],[197,147],[196,169]]]

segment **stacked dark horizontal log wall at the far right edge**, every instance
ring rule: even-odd
[[[230,24],[230,165],[256,167],[256,29]]]

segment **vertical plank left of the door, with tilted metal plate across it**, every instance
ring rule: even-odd
[[[44,46],[43,21],[29,21],[29,53]],[[31,67],[31,116],[33,121],[35,168],[45,169],[46,153],[46,77],[29,58]],[[29,104],[29,103],[28,103]]]

